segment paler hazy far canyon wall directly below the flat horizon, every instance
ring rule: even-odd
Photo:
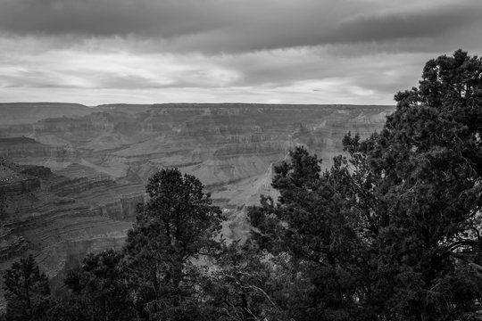
[[[50,115],[51,108],[45,106],[45,112],[40,108],[36,117]],[[69,188],[79,193],[96,185],[112,189],[105,181],[109,177],[128,186],[125,197],[129,198],[142,193],[148,177],[162,167],[194,174],[216,193],[224,185],[265,175],[272,163],[299,144],[329,166],[342,151],[345,133],[369,136],[392,110],[392,106],[242,103],[103,105],[89,112],[81,109],[79,116],[64,112],[61,117],[0,128],[0,156],[77,178]],[[83,171],[76,173],[79,166]],[[85,178],[87,169],[88,176],[104,180],[92,185]],[[104,212],[125,215],[117,205],[107,206],[110,203],[105,202]]]

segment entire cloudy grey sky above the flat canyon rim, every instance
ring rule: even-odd
[[[395,104],[480,0],[0,0],[0,102]]]

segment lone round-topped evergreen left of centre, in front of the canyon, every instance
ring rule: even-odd
[[[202,319],[202,271],[194,261],[219,250],[220,209],[197,178],[179,169],[154,174],[146,192],[149,200],[138,208],[124,249],[139,316]]]

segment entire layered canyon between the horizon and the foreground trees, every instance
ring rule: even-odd
[[[382,128],[394,106],[279,104],[0,104],[0,270],[32,253],[59,278],[87,251],[119,248],[155,171],[206,185],[243,238],[245,207],[270,188],[273,164],[297,145],[324,166],[348,131]]]

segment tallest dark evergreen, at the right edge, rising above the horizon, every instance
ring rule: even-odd
[[[384,295],[395,317],[453,320],[480,309],[481,73],[482,60],[461,50],[427,62],[419,88],[395,95],[380,134],[349,144],[380,177],[378,246],[394,276]]]

